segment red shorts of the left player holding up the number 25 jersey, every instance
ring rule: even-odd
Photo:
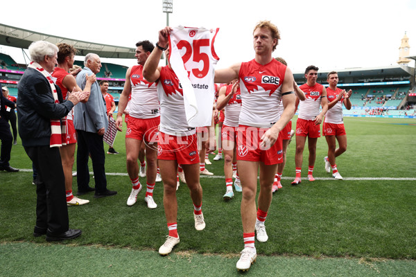
[[[172,136],[159,132],[157,139],[157,159],[177,161],[179,164],[199,163],[196,134]]]

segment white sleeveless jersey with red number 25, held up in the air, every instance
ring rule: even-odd
[[[214,67],[219,60],[214,50],[218,28],[178,26],[169,35],[169,63],[182,84],[184,109],[191,127],[211,125],[214,104]]]

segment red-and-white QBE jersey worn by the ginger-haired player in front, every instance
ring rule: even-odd
[[[255,60],[241,63],[239,72],[241,101],[240,125],[272,127],[280,118],[281,84],[286,66],[272,59],[261,65]]]

